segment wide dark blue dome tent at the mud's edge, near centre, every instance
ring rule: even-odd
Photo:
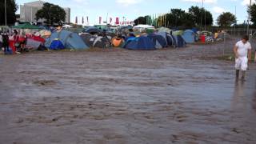
[[[123,48],[128,50],[156,50],[154,43],[145,36],[138,38],[129,38]]]

